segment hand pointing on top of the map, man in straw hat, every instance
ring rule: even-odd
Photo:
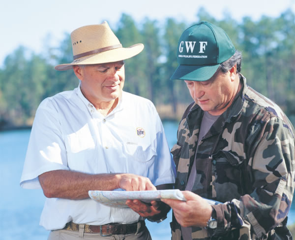
[[[148,177],[131,173],[118,174],[118,187],[126,191],[157,190]]]

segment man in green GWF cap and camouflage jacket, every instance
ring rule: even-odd
[[[294,127],[278,105],[247,86],[241,53],[219,27],[200,22],[177,45],[178,68],[194,102],[172,149],[176,188],[172,239],[292,239]],[[221,202],[209,205],[203,198]]]

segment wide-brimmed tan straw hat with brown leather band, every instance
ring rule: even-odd
[[[142,43],[124,48],[105,21],[99,25],[78,28],[71,33],[73,58],[70,64],[55,67],[59,71],[72,69],[73,65],[112,63],[131,58],[143,49]]]

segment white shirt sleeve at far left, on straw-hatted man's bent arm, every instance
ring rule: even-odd
[[[20,181],[23,188],[40,189],[40,174],[68,170],[58,115],[49,99],[44,100],[36,111]]]

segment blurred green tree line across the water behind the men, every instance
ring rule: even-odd
[[[275,18],[262,16],[254,21],[243,17],[237,22],[229,14],[216,20],[201,8],[196,21],[190,23],[174,18],[161,23],[145,18],[137,23],[123,13],[116,28],[111,26],[122,45],[145,45],[142,53],[125,61],[124,90],[150,99],[161,117],[178,120],[183,106],[192,99],[183,81],[169,79],[177,68],[177,42],[187,27],[201,20],[228,33],[242,52],[241,73],[248,85],[280,105],[294,123],[295,14],[291,10]],[[43,99],[77,87],[79,81],[73,71],[54,69],[72,60],[69,33],[58,47],[46,46],[42,54],[20,46],[8,55],[0,68],[0,130],[5,126],[30,125]]]

